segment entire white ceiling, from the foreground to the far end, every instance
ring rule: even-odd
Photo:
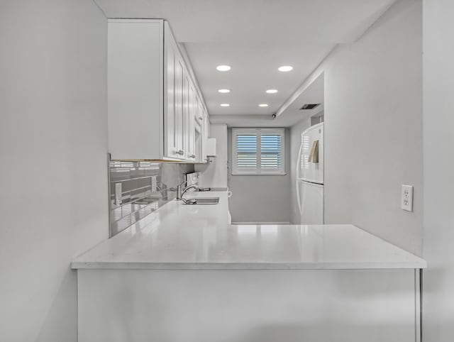
[[[164,18],[187,50],[212,121],[261,121],[338,43],[358,39],[394,0],[95,0],[108,18]],[[232,66],[218,72],[216,65]],[[291,72],[278,72],[292,65]],[[217,89],[228,88],[230,94]],[[278,89],[266,94],[266,89]],[[221,103],[229,107],[219,106]],[[270,106],[258,107],[260,103]],[[281,115],[282,116],[282,115]],[[280,116],[279,116],[280,117]],[[232,120],[230,120],[232,121]]]

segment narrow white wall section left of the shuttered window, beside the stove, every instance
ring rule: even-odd
[[[227,188],[227,125],[211,124],[210,138],[216,138],[216,158],[209,158],[204,165],[194,165],[200,172],[199,186]]]

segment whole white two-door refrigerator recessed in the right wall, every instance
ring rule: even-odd
[[[323,123],[301,133],[296,186],[301,224],[323,224]]]

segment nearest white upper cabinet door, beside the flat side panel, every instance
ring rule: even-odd
[[[167,26],[166,26],[167,28]],[[165,35],[164,154],[184,159],[183,150],[183,75],[184,61],[170,31]]]

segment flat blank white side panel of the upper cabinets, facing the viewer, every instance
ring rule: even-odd
[[[109,19],[107,101],[109,153],[114,160],[162,159],[165,89],[164,24]]]

